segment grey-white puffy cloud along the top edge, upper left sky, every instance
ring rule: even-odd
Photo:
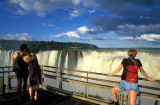
[[[18,14],[25,14],[34,11],[38,16],[44,17],[46,13],[56,11],[57,9],[69,10],[76,9],[81,0],[9,0],[11,9]],[[76,16],[73,11],[73,16]]]

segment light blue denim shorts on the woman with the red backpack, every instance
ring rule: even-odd
[[[121,80],[121,83],[119,84],[118,88],[122,91],[132,90],[136,93],[140,92],[138,83],[131,83],[131,82],[127,82],[125,80]]]

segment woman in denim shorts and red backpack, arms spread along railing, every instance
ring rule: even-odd
[[[129,91],[130,105],[136,105],[136,98],[137,94],[139,93],[138,68],[140,69],[140,72],[143,74],[145,78],[147,78],[151,82],[155,82],[155,79],[152,79],[147,76],[147,74],[143,70],[141,61],[139,59],[135,59],[136,54],[137,51],[135,49],[130,49],[128,51],[128,59],[123,59],[120,66],[113,73],[108,74],[108,76],[115,75],[123,67],[123,73],[121,76],[121,82],[119,86],[116,86],[111,89],[115,105],[119,105],[119,103],[117,102],[116,93],[122,91]]]

